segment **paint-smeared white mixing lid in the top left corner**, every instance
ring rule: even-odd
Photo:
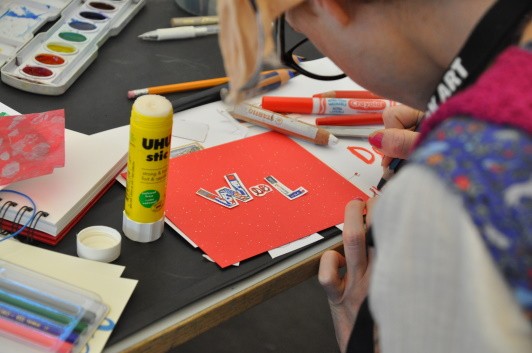
[[[72,0],[0,1],[0,67],[46,23],[59,18]]]

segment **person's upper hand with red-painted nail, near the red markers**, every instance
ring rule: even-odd
[[[373,132],[368,138],[369,143],[384,155],[383,167],[386,168],[393,158],[408,157],[418,135],[413,130],[422,116],[423,112],[406,105],[395,105],[384,110],[382,119],[385,128]]]

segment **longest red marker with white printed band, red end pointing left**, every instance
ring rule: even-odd
[[[347,99],[311,97],[262,97],[262,108],[277,113],[354,115],[382,113],[397,103],[388,99]]]

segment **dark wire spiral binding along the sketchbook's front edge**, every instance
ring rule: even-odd
[[[12,220],[7,219],[7,212],[11,207],[18,207],[15,217]],[[20,230],[21,227],[24,227],[26,222],[23,222],[24,216],[28,217],[27,213],[32,213],[33,208],[30,206],[22,205],[19,206],[18,203],[6,200],[6,198],[0,198],[0,235],[6,236],[13,234]],[[37,211],[30,222],[27,224],[26,228],[21,232],[21,235],[24,235],[28,241],[32,241],[38,231],[35,230],[37,223],[42,217],[48,217],[49,213],[46,211]]]

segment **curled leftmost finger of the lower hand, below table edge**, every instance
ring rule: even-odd
[[[332,250],[324,252],[320,259],[318,281],[325,290],[327,298],[333,303],[339,301],[344,292],[344,281],[338,271],[345,265],[345,258]]]

